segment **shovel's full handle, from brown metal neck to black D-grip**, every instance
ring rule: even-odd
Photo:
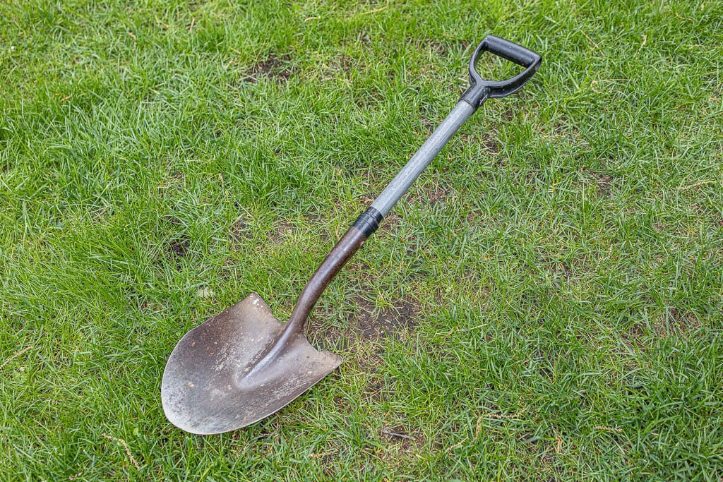
[[[476,61],[483,51],[489,51],[509,61],[525,66],[526,70],[511,79],[502,82],[483,80],[476,72]],[[435,155],[445,147],[457,129],[469,119],[487,98],[500,98],[510,95],[522,87],[539,67],[542,57],[524,47],[518,46],[502,38],[492,35],[482,40],[475,49],[469,62],[470,87],[464,92],[457,105],[452,109],[442,124],[437,126],[435,132],[424,142],[422,147],[404,165],[382,194],[372,202],[372,205],[356,219],[354,225],[338,241],[314,275],[309,279],[299,300],[296,301],[291,318],[286,323],[286,329],[275,346],[270,350],[269,356],[278,356],[283,350],[286,341],[296,335],[304,336],[307,317],[321,296],[324,288],[333,280],[335,275],[348,262],[354,253],[372,236],[384,217],[394,207],[403,194],[416,181],[424,168],[432,162]]]

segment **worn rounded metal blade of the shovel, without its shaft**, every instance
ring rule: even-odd
[[[166,417],[192,434],[221,434],[270,416],[341,364],[304,334],[273,363],[260,360],[284,330],[251,293],[188,332],[166,363],[161,400]]]

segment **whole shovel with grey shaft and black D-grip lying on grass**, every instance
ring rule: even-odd
[[[475,64],[490,52],[525,70],[502,82],[483,80]],[[487,98],[502,98],[522,87],[542,57],[508,40],[488,35],[469,61],[470,87],[369,209],[333,247],[304,286],[286,323],[251,293],[231,308],[188,332],[171,356],[161,382],[163,411],[171,423],[192,434],[221,434],[270,416],[291,403],[341,364],[341,357],[317,351],[306,337],[307,317],[322,291],[374,233],[450,137]]]

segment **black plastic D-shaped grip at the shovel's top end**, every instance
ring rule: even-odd
[[[494,53],[497,56],[526,67],[524,72],[515,75],[511,79],[502,81],[484,80],[477,73],[475,64],[482,52]],[[469,89],[462,94],[461,100],[466,101],[472,107],[479,108],[487,98],[501,98],[510,95],[533,76],[539,69],[542,56],[528,48],[518,46],[516,43],[504,38],[487,35],[474,49],[472,58],[469,61]]]

